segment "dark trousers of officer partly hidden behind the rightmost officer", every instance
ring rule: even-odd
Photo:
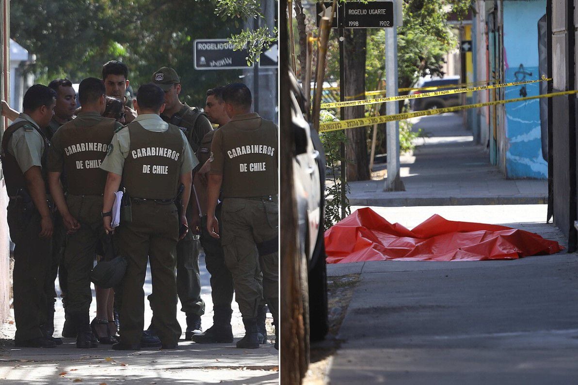
[[[221,205],[215,210],[217,220],[221,223]],[[222,231],[221,231],[222,235]],[[205,251],[205,264],[211,275],[211,297],[213,306],[231,306],[233,301],[233,277],[225,264],[225,255],[221,240],[210,236],[207,231],[207,216],[201,219],[201,246]]]

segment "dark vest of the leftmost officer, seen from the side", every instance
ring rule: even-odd
[[[30,122],[20,121],[9,126],[4,132],[4,135],[2,136],[2,170],[4,172],[6,179],[6,190],[8,192],[8,196],[15,196],[18,190],[21,188],[28,190],[26,186],[26,180],[24,179],[24,173],[22,172],[22,170],[20,170],[20,166],[18,166],[16,157],[14,157],[8,152],[8,143],[12,138],[12,135],[18,129],[24,127],[34,128],[40,134],[40,136],[42,136],[42,139],[44,140],[44,152],[40,157],[40,163],[42,164],[41,172],[42,172],[42,179],[44,180],[45,183],[46,192],[47,193],[49,192],[46,158],[48,154],[48,148],[50,147],[50,142],[48,141],[48,139],[46,139],[46,136],[42,132],[42,130],[36,128],[35,125],[33,125]]]

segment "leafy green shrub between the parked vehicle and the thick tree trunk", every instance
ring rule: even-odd
[[[333,122],[338,120],[328,111],[321,111],[320,122]],[[342,219],[341,205],[346,206],[346,215],[351,214],[349,198],[342,196],[341,181],[339,179],[339,167],[341,165],[341,143],[347,143],[347,137],[342,130],[329,131],[320,134],[321,143],[325,150],[325,162],[327,163],[328,173],[325,176],[325,211],[323,213],[324,230],[335,225]],[[345,183],[346,194],[350,192],[350,187]]]

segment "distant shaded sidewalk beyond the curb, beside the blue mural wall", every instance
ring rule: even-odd
[[[384,180],[349,182],[352,205],[420,206],[547,203],[546,180],[506,180],[490,164],[485,146],[473,144],[461,115],[449,113],[414,118],[417,139],[413,154],[402,155],[400,175],[405,191],[384,192]],[[387,169],[376,163],[373,171]]]

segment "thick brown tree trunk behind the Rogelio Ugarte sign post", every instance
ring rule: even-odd
[[[346,29],[344,40],[345,95],[357,96],[346,100],[365,99],[365,47],[367,32],[365,29]],[[365,117],[365,106],[346,107],[345,118]],[[349,143],[345,147],[347,159],[347,180],[366,181],[370,178],[367,149],[367,128],[345,130]]]

